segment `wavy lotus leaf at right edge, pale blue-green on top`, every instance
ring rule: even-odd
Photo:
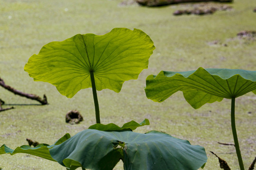
[[[231,99],[248,92],[256,93],[256,71],[242,69],[198,68],[193,71],[161,71],[146,78],[146,96],[163,102],[177,91],[198,109],[205,103]]]

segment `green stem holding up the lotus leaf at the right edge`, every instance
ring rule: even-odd
[[[233,137],[234,137],[234,143],[235,143],[235,147],[236,147],[240,170],[245,170],[244,164],[243,164],[243,159],[242,159],[240,148],[239,148],[238,135],[237,135],[237,130],[236,130],[235,97],[231,98],[231,127],[232,127],[232,133],[233,133]]]

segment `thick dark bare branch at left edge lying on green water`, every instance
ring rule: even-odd
[[[14,94],[18,94],[22,97],[26,97],[28,99],[32,99],[32,100],[36,100],[37,102],[40,102],[42,105],[48,104],[47,102],[47,98],[46,95],[44,94],[43,99],[35,94],[27,94],[27,93],[23,93],[20,92],[12,87],[10,87],[9,85],[5,85],[3,79],[0,78],[0,86],[2,86],[3,88],[5,88],[6,90],[9,90],[10,92],[14,93]]]

